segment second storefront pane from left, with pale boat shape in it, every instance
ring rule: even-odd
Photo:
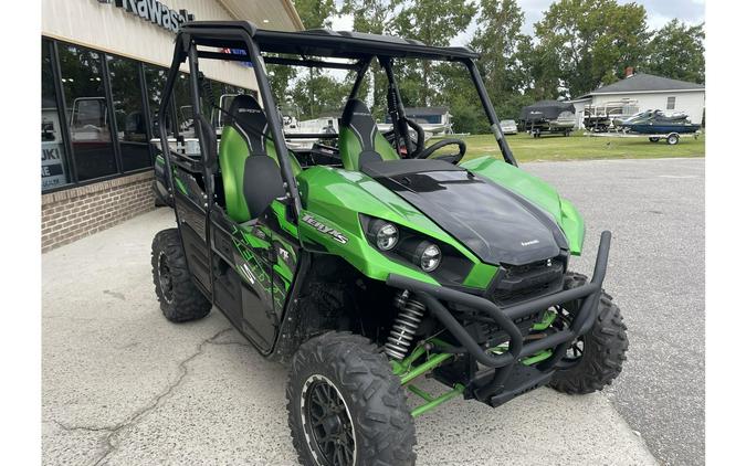
[[[112,129],[98,52],[60,45],[60,71],[77,179],[116,172]]]

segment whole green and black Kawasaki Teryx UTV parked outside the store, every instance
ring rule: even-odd
[[[189,22],[176,38],[154,189],[177,227],[153,242],[156,294],[168,320],[214,306],[263,356],[288,363],[288,424],[303,464],[411,465],[413,417],[441,403],[494,407],[545,384],[589,393],[621,371],[626,327],[601,287],[611,235],[601,234],[592,278],[569,272],[582,219],[517,168],[477,57],[249,22]],[[397,86],[403,60],[451,62],[470,76],[503,160],[461,162],[459,139],[425,147]],[[242,62],[259,99],[216,102],[202,61]],[[388,78],[386,133],[358,97],[371,64]],[[267,65],[351,72],[338,131],[284,131]],[[191,138],[168,134],[177,85],[188,88]],[[309,137],[336,144],[288,150]],[[442,393],[418,388],[422,375]],[[410,405],[406,392],[421,402]]]

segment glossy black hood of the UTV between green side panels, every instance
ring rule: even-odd
[[[372,162],[363,171],[392,190],[482,262],[523,265],[567,248],[554,219],[485,178],[438,160]]]

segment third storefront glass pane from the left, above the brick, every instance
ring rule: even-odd
[[[150,149],[146,130],[147,117],[143,108],[139,65],[127,59],[106,56],[112,83],[114,118],[122,152],[124,171],[150,165]]]

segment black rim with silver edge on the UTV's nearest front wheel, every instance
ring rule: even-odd
[[[312,375],[303,385],[301,414],[306,442],[316,463],[355,464],[355,427],[347,404],[324,375]]]

